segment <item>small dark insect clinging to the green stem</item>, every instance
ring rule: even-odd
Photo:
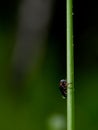
[[[67,98],[67,85],[65,79],[60,80],[59,89],[64,98]]]

